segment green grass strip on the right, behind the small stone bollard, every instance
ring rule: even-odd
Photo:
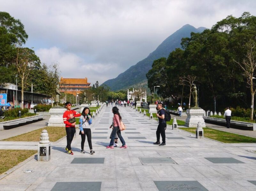
[[[188,131],[190,133],[196,134],[196,128],[179,128],[184,131]],[[219,131],[211,128],[203,128],[204,136],[207,138],[211,138],[217,141],[221,141],[223,143],[256,143],[256,138],[246,137],[243,135],[237,135],[234,133]]]

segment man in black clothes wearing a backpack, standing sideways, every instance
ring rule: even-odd
[[[163,145],[166,145],[166,143],[165,143],[166,121],[165,121],[165,111],[163,110],[163,103],[158,103],[157,109],[158,109],[158,112],[157,112],[156,116],[158,117],[159,124],[158,124],[157,131],[156,131],[157,141],[153,144],[163,146]],[[160,144],[160,134],[162,137],[161,144]]]

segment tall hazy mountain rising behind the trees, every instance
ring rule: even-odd
[[[148,55],[147,58],[131,66],[116,78],[105,81],[103,84],[109,86],[112,91],[127,90],[131,87],[147,88],[146,74],[151,69],[153,61],[161,57],[167,58],[170,52],[174,51],[175,48],[181,48],[182,38],[190,37],[191,32],[203,32],[205,29],[205,27],[199,27],[196,29],[188,24],[182,26],[182,28],[165,39],[155,51]]]

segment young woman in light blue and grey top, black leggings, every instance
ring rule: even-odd
[[[90,148],[90,154],[94,154],[95,152],[92,150],[91,145],[91,127],[90,124],[92,124],[92,116],[90,113],[90,109],[88,107],[85,107],[82,111],[82,115],[79,119],[79,135],[81,135],[81,153],[85,153],[84,151],[84,142],[85,142],[85,136],[87,136],[88,145]]]

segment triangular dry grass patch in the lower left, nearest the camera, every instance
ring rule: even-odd
[[[37,150],[0,150],[0,174],[37,153]]]

